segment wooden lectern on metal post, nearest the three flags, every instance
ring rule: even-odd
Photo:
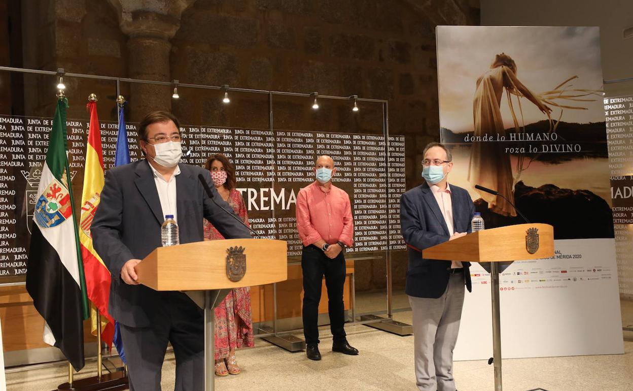
[[[204,390],[214,388],[213,309],[232,288],[287,278],[283,240],[227,239],[158,247],[135,267],[139,283],[154,290],[187,292],[204,308]],[[196,300],[199,293],[201,300]]]

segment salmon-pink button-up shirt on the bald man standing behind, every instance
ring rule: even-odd
[[[351,247],[354,222],[348,193],[333,184],[325,193],[317,181],[299,190],[297,229],[304,246],[323,239],[330,245],[341,241]]]

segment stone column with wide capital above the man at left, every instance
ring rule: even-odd
[[[132,20],[121,23],[130,38],[127,42],[129,77],[170,81],[170,39],[180,28],[180,20],[152,11],[134,11]],[[171,110],[172,87],[130,84],[125,97],[130,105],[130,120],[141,120],[152,110]]]

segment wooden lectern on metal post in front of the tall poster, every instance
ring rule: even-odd
[[[499,319],[499,262],[549,258],[554,255],[554,228],[548,224],[519,224],[485,229],[422,250],[426,259],[491,262],[492,357],[494,390],[501,391],[501,322]]]

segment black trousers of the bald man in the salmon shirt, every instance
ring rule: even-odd
[[[321,300],[321,286],[325,276],[327,287],[330,330],[334,342],[345,340],[345,309],[343,306],[343,286],[345,284],[345,257],[341,252],[335,259],[325,256],[320,248],[310,245],[301,253],[303,269],[303,335],[307,345],[319,343],[318,303]]]

